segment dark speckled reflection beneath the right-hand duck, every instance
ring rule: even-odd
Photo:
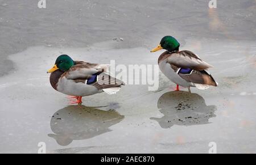
[[[162,128],[171,128],[174,125],[208,124],[211,117],[216,117],[215,105],[207,106],[202,96],[186,91],[163,94],[158,100],[158,108],[164,116],[150,119],[158,121]]]

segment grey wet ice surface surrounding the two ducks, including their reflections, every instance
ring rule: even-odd
[[[256,1],[208,2],[0,1],[0,153],[256,153]],[[49,84],[60,54],[155,65],[165,35],[213,65],[219,86],[177,92],[159,73],[157,91],[127,84],[70,105]]]

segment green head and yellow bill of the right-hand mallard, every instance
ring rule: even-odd
[[[152,49],[151,52],[156,52],[161,49],[166,49],[168,52],[174,52],[179,50],[180,43],[172,36],[164,36],[160,41],[160,44]]]

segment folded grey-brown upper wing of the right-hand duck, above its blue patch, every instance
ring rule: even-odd
[[[188,50],[172,53],[167,58],[167,62],[171,65],[175,65],[176,67],[185,69],[189,68],[193,70],[205,70],[209,67],[213,67],[207,62],[201,60],[195,53]]]

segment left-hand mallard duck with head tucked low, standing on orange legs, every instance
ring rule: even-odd
[[[74,61],[66,54],[57,57],[55,65],[47,71],[51,86],[63,94],[77,99],[72,103],[82,103],[82,96],[94,95],[100,92],[115,94],[124,83],[108,72],[109,65],[90,64],[84,61]]]

